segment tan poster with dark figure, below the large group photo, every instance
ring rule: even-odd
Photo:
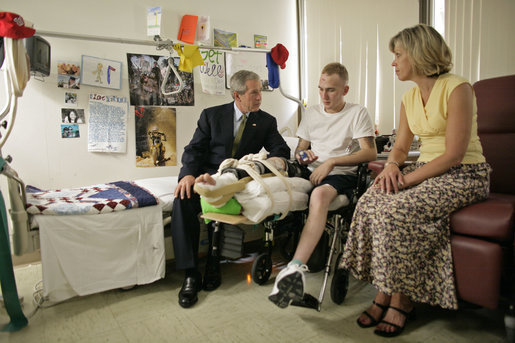
[[[135,107],[136,167],[177,165],[176,110]]]

